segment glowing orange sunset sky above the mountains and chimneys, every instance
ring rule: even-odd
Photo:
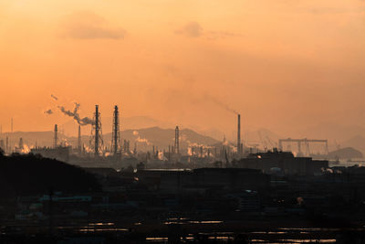
[[[363,124],[363,0],[1,0],[0,123],[21,131],[81,115],[279,133]]]

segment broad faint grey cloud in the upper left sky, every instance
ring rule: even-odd
[[[107,21],[92,12],[77,12],[64,19],[64,37],[75,39],[123,39],[126,31],[110,27]]]

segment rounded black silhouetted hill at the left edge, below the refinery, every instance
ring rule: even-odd
[[[1,196],[80,193],[100,189],[94,175],[70,164],[38,155],[0,155]]]

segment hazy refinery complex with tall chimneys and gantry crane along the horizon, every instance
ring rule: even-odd
[[[134,148],[130,147],[129,140],[123,140],[120,136],[120,111],[118,106],[114,107],[112,117],[111,141],[103,140],[102,124],[99,105],[95,106],[94,118],[89,120],[91,134],[89,142],[82,142],[81,126],[78,122],[77,144],[62,144],[59,142],[58,127],[54,126],[53,146],[36,145],[30,148],[30,153],[40,154],[47,158],[55,158],[68,164],[76,164],[81,167],[111,167],[120,170],[127,167],[137,168],[183,168],[194,169],[200,167],[224,167],[224,168],[251,168],[259,169],[265,173],[273,170],[282,171],[284,174],[313,175],[320,174],[328,168],[328,161],[313,160],[308,155],[308,144],[310,142],[325,143],[328,153],[327,140],[309,139],[280,139],[278,148],[266,151],[259,151],[257,148],[248,148],[241,142],[241,115],[237,114],[237,142],[216,143],[213,145],[192,144],[183,151],[180,146],[181,136],[179,126],[175,127],[173,141],[167,148],[158,148],[151,145],[151,150],[145,152],[138,149],[137,143]],[[0,146],[5,153],[21,153],[24,145],[22,138],[15,150],[8,147],[8,138],[1,139]],[[283,143],[297,143],[298,154],[294,156],[291,152],[283,152]],[[302,144],[306,148],[302,152]]]

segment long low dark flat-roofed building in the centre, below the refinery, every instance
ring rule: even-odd
[[[197,168],[193,170],[141,170],[142,183],[162,192],[196,192],[209,190],[264,190],[270,176],[261,170],[242,168]]]

